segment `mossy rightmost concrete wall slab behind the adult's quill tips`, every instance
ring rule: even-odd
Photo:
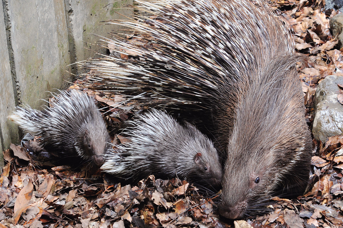
[[[109,32],[122,28],[117,25],[104,25],[103,21],[108,19],[127,19],[127,17],[122,15],[130,16],[132,11],[122,9],[122,6],[131,5],[132,2],[132,0],[116,2],[113,0],[66,0],[69,30],[72,33],[77,62],[94,57],[94,51],[106,53],[107,50],[105,48],[92,45],[96,44],[99,40],[99,37],[95,35],[109,37]]]

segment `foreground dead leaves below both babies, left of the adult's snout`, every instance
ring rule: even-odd
[[[0,227],[205,228],[218,222],[213,201],[185,181],[149,176],[137,186],[114,185],[87,168],[43,169],[48,166],[44,156],[33,161],[34,151],[11,147],[4,152],[8,163],[1,176]]]

